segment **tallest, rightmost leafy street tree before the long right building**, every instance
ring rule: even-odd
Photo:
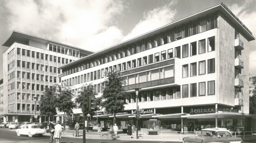
[[[114,114],[113,124],[116,123],[116,114],[125,109],[125,99],[128,95],[125,92],[125,80],[118,71],[107,73],[107,79],[104,81],[105,87],[101,96],[101,106],[108,113]]]

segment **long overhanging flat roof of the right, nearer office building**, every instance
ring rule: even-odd
[[[93,57],[98,57],[98,56],[101,56],[101,55],[105,55],[106,52],[113,51],[113,50],[118,49],[122,46],[126,46],[126,45],[129,45],[129,44],[135,43],[139,40],[147,39],[151,36],[154,36],[155,34],[165,32],[167,30],[173,29],[173,28],[175,28],[177,26],[180,26],[182,24],[188,23],[190,21],[194,21],[194,20],[198,19],[199,17],[205,17],[207,14],[216,13],[217,11],[220,11],[221,13],[223,13],[224,16],[227,17],[230,20],[230,22],[234,24],[234,26],[236,26],[243,34],[245,34],[245,36],[247,37],[248,40],[255,40],[255,37],[252,35],[250,30],[224,4],[219,4],[217,6],[213,6],[211,8],[200,11],[200,12],[195,13],[193,15],[190,15],[188,17],[184,17],[184,18],[182,18],[180,20],[177,20],[173,23],[169,23],[167,25],[164,25],[164,26],[162,26],[158,29],[155,29],[155,30],[152,30],[152,31],[147,32],[145,34],[134,37],[130,40],[126,40],[126,41],[121,42],[117,45],[114,45],[114,46],[108,47],[106,49],[103,49],[101,51],[95,52],[94,54],[88,55],[87,57],[83,57],[83,58],[78,59],[76,61],[73,61],[71,63],[65,64],[65,65],[63,65],[59,68],[63,69],[65,67],[74,65],[76,63],[80,63],[81,61],[84,61],[84,60],[87,60],[87,59],[90,59],[90,58],[93,58]]]

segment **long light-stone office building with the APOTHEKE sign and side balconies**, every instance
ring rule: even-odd
[[[68,63],[60,67],[61,82],[76,96],[82,85],[93,84],[100,96],[104,73],[119,70],[131,92],[119,121],[134,119],[134,88],[140,88],[141,127],[157,119],[175,130],[217,126],[249,131],[255,116],[249,114],[249,78],[244,75],[249,74],[251,40],[250,30],[220,4]],[[112,120],[113,115],[94,117]]]

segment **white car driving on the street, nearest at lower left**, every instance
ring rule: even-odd
[[[26,124],[20,126],[19,129],[16,130],[17,136],[20,135],[28,135],[29,137],[33,137],[34,135],[42,136],[44,134],[44,129],[41,129],[37,124]]]

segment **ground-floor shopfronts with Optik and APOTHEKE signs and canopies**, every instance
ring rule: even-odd
[[[231,108],[223,105],[190,106],[162,109],[142,109],[138,128],[147,128],[150,119],[160,120],[159,129],[170,129],[173,131],[187,132],[200,131],[204,128],[224,127],[230,131],[252,131],[256,130],[253,122],[256,115],[239,113],[239,107]],[[126,111],[116,115],[116,123],[122,127],[127,122],[136,126],[136,112]],[[112,114],[100,114],[94,116],[101,126],[108,124],[112,126]],[[104,123],[104,124],[102,124]],[[105,125],[104,125],[105,126]]]

